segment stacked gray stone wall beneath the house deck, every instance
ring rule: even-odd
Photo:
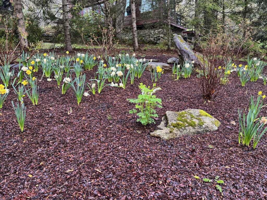
[[[142,29],[137,30],[137,38],[140,43],[160,43],[167,40],[166,31],[164,29]],[[125,31],[122,34],[122,39],[132,41],[132,32]]]

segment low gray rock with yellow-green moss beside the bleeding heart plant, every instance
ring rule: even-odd
[[[221,123],[203,110],[187,109],[180,112],[166,111],[158,130],[151,136],[171,139],[183,135],[211,132],[218,129]]]

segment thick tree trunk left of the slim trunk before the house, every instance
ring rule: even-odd
[[[117,0],[112,7],[112,23],[117,38],[121,38],[122,35],[125,8],[126,0]]]

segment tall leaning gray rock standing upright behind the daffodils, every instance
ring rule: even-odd
[[[183,62],[192,62],[195,61],[195,64],[199,64],[197,57],[194,54],[194,51],[191,49],[189,44],[184,41],[181,35],[173,34],[173,41],[176,45],[180,61]]]

